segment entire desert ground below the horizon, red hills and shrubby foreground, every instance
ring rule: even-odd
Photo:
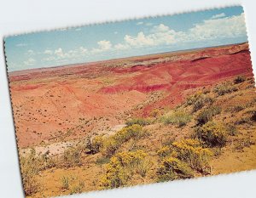
[[[256,168],[248,43],[9,72],[26,197]]]

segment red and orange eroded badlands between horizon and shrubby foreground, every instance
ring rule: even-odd
[[[236,75],[253,75],[247,43],[15,71],[9,80],[18,144],[103,133]]]

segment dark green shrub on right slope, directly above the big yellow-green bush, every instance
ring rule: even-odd
[[[201,110],[201,112],[196,117],[197,124],[203,125],[212,120],[213,116],[218,115],[221,112],[221,108],[218,106],[210,106],[207,109]]]

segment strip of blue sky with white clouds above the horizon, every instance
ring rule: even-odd
[[[6,37],[9,71],[247,42],[240,6]]]

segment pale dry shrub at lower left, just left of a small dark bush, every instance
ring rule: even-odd
[[[82,150],[79,146],[67,148],[63,153],[63,167],[75,167],[82,164]]]

